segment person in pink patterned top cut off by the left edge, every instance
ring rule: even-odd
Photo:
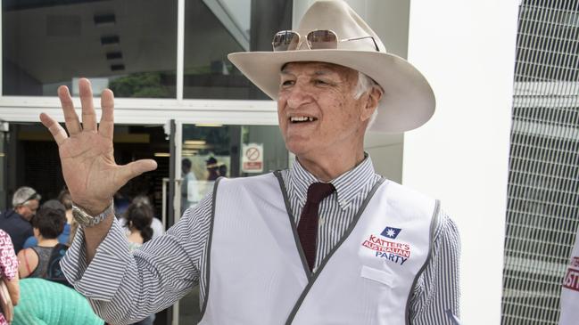
[[[18,281],[18,259],[14,255],[14,247],[10,236],[0,229],[0,280],[4,281],[8,289],[8,296],[12,305],[20,300],[20,285]],[[5,297],[8,298],[8,297]],[[9,306],[6,306],[9,307]],[[0,325],[8,322],[4,313],[0,313]]]

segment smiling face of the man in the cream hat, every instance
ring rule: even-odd
[[[357,71],[330,63],[292,62],[280,75],[277,114],[288,150],[299,158],[362,145],[365,101],[364,96],[354,99]]]

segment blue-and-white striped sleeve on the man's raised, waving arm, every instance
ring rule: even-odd
[[[87,297],[95,313],[113,324],[128,324],[173,305],[199,283],[211,226],[211,194],[170,230],[130,253],[117,220],[87,265],[84,231],[79,229],[62,271]]]

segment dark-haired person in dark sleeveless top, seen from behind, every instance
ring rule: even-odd
[[[18,253],[20,266],[18,271],[21,278],[45,278],[62,282],[63,276],[60,264],[55,263],[63,256],[66,246],[59,243],[66,223],[65,207],[51,199],[40,207],[37,215],[32,219],[32,228],[37,238],[37,246],[22,249]],[[58,279],[55,279],[58,277]],[[65,284],[66,282],[62,282]]]

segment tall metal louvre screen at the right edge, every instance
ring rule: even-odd
[[[557,324],[579,223],[579,0],[523,0],[502,324]]]

